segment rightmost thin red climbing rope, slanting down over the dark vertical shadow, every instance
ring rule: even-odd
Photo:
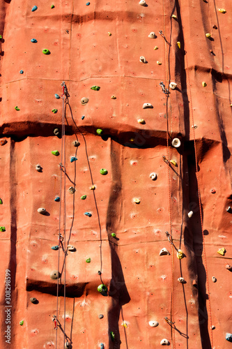
[[[179,2],[179,8],[180,8],[180,15],[182,13],[182,6],[180,5],[181,0]],[[182,17],[182,15],[181,15]],[[185,47],[185,36],[183,33],[183,41],[184,41],[184,47]],[[187,52],[185,52],[185,62],[186,62],[186,73],[187,73],[187,83],[189,88],[189,96],[190,96],[190,112],[192,117],[192,125],[194,125],[194,114],[193,114],[193,107],[192,107],[192,94],[191,94],[191,84],[190,84],[190,73],[189,73],[189,66],[187,62]],[[207,262],[206,262],[206,246],[205,246],[205,237],[203,234],[203,215],[202,215],[202,209],[201,209],[201,193],[199,189],[199,170],[198,170],[198,161],[197,161],[197,155],[196,155],[196,138],[195,138],[195,130],[194,127],[192,127],[193,136],[194,136],[194,156],[195,156],[195,165],[196,165],[196,184],[197,184],[197,193],[198,193],[198,199],[199,199],[199,211],[200,211],[200,218],[201,218],[201,234],[202,234],[202,242],[203,242],[203,256],[204,256],[204,262],[205,262],[205,269],[206,269],[206,289],[208,292],[208,309],[209,309],[209,318],[210,318],[210,337],[211,337],[211,346],[213,348],[213,341],[212,341],[212,312],[211,312],[211,304],[210,304],[210,289],[209,289],[209,282],[208,282],[208,269],[207,269]]]

